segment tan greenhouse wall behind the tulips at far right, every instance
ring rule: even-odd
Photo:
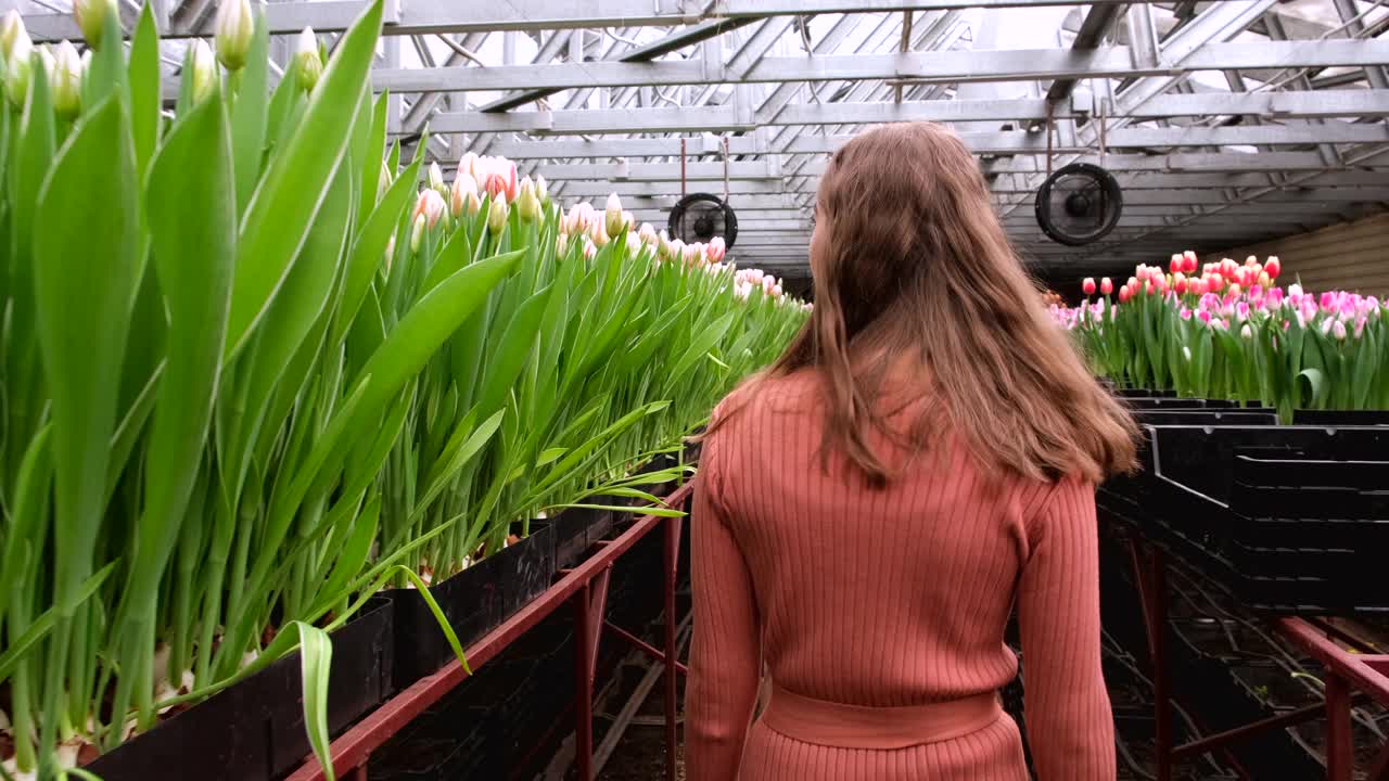
[[[1308,290],[1356,290],[1389,295],[1389,214],[1378,214],[1310,233],[1226,250],[1236,260],[1275,254],[1289,281],[1300,278]]]

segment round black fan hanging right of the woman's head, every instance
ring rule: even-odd
[[[1038,225],[1053,242],[1081,246],[1114,229],[1124,211],[1120,183],[1108,171],[1072,163],[1047,176],[1038,190]]]

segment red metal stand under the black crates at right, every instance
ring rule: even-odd
[[[1157,781],[1171,781],[1172,766],[1178,759],[1215,750],[1228,752],[1232,743],[1251,735],[1288,728],[1322,716],[1326,718],[1326,780],[1351,781],[1354,748],[1350,710],[1367,699],[1389,706],[1389,656],[1346,650],[1336,643],[1336,639],[1353,642],[1353,638],[1333,624],[1279,618],[1272,625],[1274,631],[1315,657],[1325,668],[1326,702],[1185,745],[1174,745],[1171,670],[1167,653],[1167,559],[1161,550],[1136,538],[1131,538],[1129,545],[1153,671]],[[1381,749],[1371,766],[1368,781],[1389,781],[1389,746]]]

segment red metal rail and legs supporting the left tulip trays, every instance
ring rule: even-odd
[[[693,484],[681,486],[671,493],[665,504],[681,507],[689,499],[692,488]],[[560,579],[546,589],[544,593],[467,649],[468,664],[474,670],[478,670],[515,642],[517,638],[558,610],[560,606],[572,606],[575,611],[574,663],[578,673],[574,703],[578,753],[575,762],[581,781],[592,781],[593,778],[593,677],[597,643],[604,627],[603,609],[607,603],[608,575],[619,556],[631,550],[638,541],[656,528],[663,529],[661,589],[665,596],[664,652],[657,652],[646,643],[640,643],[639,648],[663,663],[665,659],[675,659],[675,578],[679,561],[681,527],[682,518],[658,518],[656,516],[638,518],[615,539],[601,542],[599,550],[588,560],[572,570],[561,573]],[[636,639],[626,632],[617,634],[617,636],[628,642]],[[679,673],[679,664],[665,666],[668,781],[675,781],[675,677]],[[381,707],[347,730],[329,746],[328,750],[336,774],[349,781],[365,781],[367,762],[371,759],[371,755],[467,678],[468,674],[463,670],[463,666],[454,660],[433,675],[417,681],[410,688],[382,703]],[[308,757],[286,781],[325,781],[324,768],[317,759]]]

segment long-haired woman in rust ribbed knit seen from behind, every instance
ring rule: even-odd
[[[951,132],[832,158],[815,309],[694,491],[690,781],[1113,781],[1093,486],[1132,420],[1046,317]],[[749,727],[765,661],[771,702]]]

